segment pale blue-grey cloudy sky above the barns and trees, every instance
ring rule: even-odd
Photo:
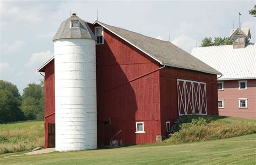
[[[43,78],[37,73],[53,56],[52,38],[70,12],[93,22],[169,40],[188,53],[205,37],[228,37],[249,27],[255,40],[254,1],[0,1],[0,79],[19,92]]]

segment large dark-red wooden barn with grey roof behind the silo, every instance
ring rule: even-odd
[[[154,143],[179,115],[218,115],[217,70],[171,42],[87,24],[97,31],[98,145]],[[38,69],[45,73],[45,148],[54,146],[54,65],[52,58]]]

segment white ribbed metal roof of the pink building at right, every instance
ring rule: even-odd
[[[256,78],[255,45],[234,49],[233,45],[193,48],[191,53],[199,60],[219,70],[223,76],[218,80],[241,80]]]

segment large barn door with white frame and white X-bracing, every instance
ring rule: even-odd
[[[178,79],[177,89],[179,116],[184,114],[207,114],[205,83]]]

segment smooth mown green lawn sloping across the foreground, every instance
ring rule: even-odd
[[[0,164],[255,164],[256,134],[179,145],[149,144],[80,152],[10,155],[14,154],[0,155]]]

